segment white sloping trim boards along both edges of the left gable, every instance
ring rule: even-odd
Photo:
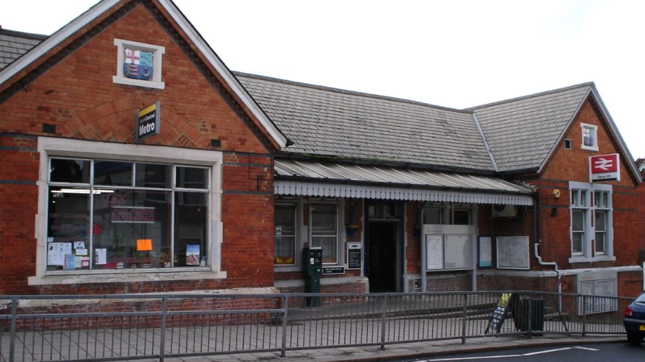
[[[41,42],[40,44],[32,48],[32,50],[25,53],[25,55],[9,64],[3,71],[0,71],[0,84],[3,84],[4,82],[14,77],[14,75],[16,75],[19,71],[25,69],[29,64],[32,64],[32,62],[45,55],[47,52],[52,50],[52,48],[62,43],[68,37],[74,35],[74,33],[81,30],[88,23],[99,17],[107,10],[110,10],[110,8],[112,8],[113,6],[117,5],[119,1],[120,0],[103,0],[97,5],[92,6],[90,10],[87,10],[67,25],[63,26],[63,28],[52,34],[52,36],[48,37],[47,39],[45,39],[45,41]],[[197,46],[197,49],[199,49],[199,51],[203,53],[204,57],[206,57],[213,68],[215,68],[215,70],[223,77],[224,82],[226,82],[226,84],[230,86],[235,95],[237,95],[237,97],[241,99],[244,105],[246,105],[251,113],[253,113],[253,116],[255,116],[259,120],[260,124],[262,124],[264,129],[266,129],[273,140],[281,148],[284,148],[286,146],[287,138],[264,114],[264,111],[261,110],[257,103],[255,103],[255,101],[252,99],[252,97],[246,92],[246,90],[244,90],[243,86],[237,81],[237,79],[235,79],[231,71],[226,68],[224,62],[222,62],[221,59],[217,57],[215,52],[213,52],[210,46],[206,44],[201,35],[199,35],[192,24],[188,22],[186,17],[184,17],[184,15],[179,11],[177,6],[175,6],[174,3],[169,0],[159,0],[159,3],[164,7],[168,14],[170,14],[172,19],[176,21],[177,24],[179,24],[181,30],[183,30],[188,35],[188,38],[190,38],[190,40]]]

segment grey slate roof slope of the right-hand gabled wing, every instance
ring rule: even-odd
[[[578,84],[471,108],[499,171],[539,168],[592,87]]]

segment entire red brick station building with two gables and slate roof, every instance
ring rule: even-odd
[[[593,83],[453,110],[232,73],[166,0],[3,37],[5,294],[301,292],[306,246],[323,292],[642,288]]]

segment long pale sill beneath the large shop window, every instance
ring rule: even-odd
[[[79,274],[83,272],[83,274]],[[177,269],[110,269],[97,271],[57,271],[45,276],[30,276],[29,285],[132,283],[138,281],[180,281],[226,278],[224,271],[211,271],[208,267]]]

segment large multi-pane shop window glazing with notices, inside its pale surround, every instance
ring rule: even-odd
[[[210,264],[207,167],[49,162],[47,271]]]

